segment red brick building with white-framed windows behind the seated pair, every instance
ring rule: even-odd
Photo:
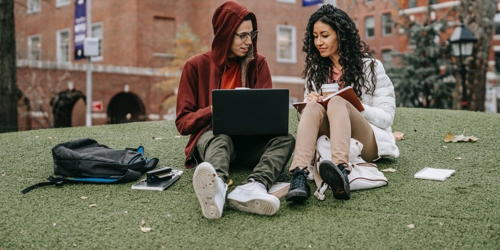
[[[78,1],[84,0],[14,3],[20,130],[85,124],[87,59],[74,58],[73,42]],[[175,34],[180,25],[187,25],[199,38],[198,45],[208,48],[213,37],[212,13],[223,1],[91,0],[89,28],[92,37],[100,38],[100,55],[91,59],[92,124],[173,118],[179,72],[165,71],[164,67],[175,59]],[[274,87],[290,89],[290,102],[302,99],[302,38],[307,19],[318,5],[302,6],[301,0],[239,2],[257,16],[258,51],[267,58]],[[390,65],[391,51],[406,50],[402,37],[386,23],[399,16],[394,1],[323,2],[351,14],[361,38],[375,48],[384,65]],[[397,2],[402,3],[405,13],[418,15],[425,13],[428,0]],[[458,1],[435,3],[436,9],[446,9]],[[500,35],[500,29],[496,30]],[[493,42],[492,86],[500,72],[494,66],[500,58],[500,52],[495,52],[500,51],[500,43]],[[496,112],[500,91],[493,95],[495,105],[488,111]]]

